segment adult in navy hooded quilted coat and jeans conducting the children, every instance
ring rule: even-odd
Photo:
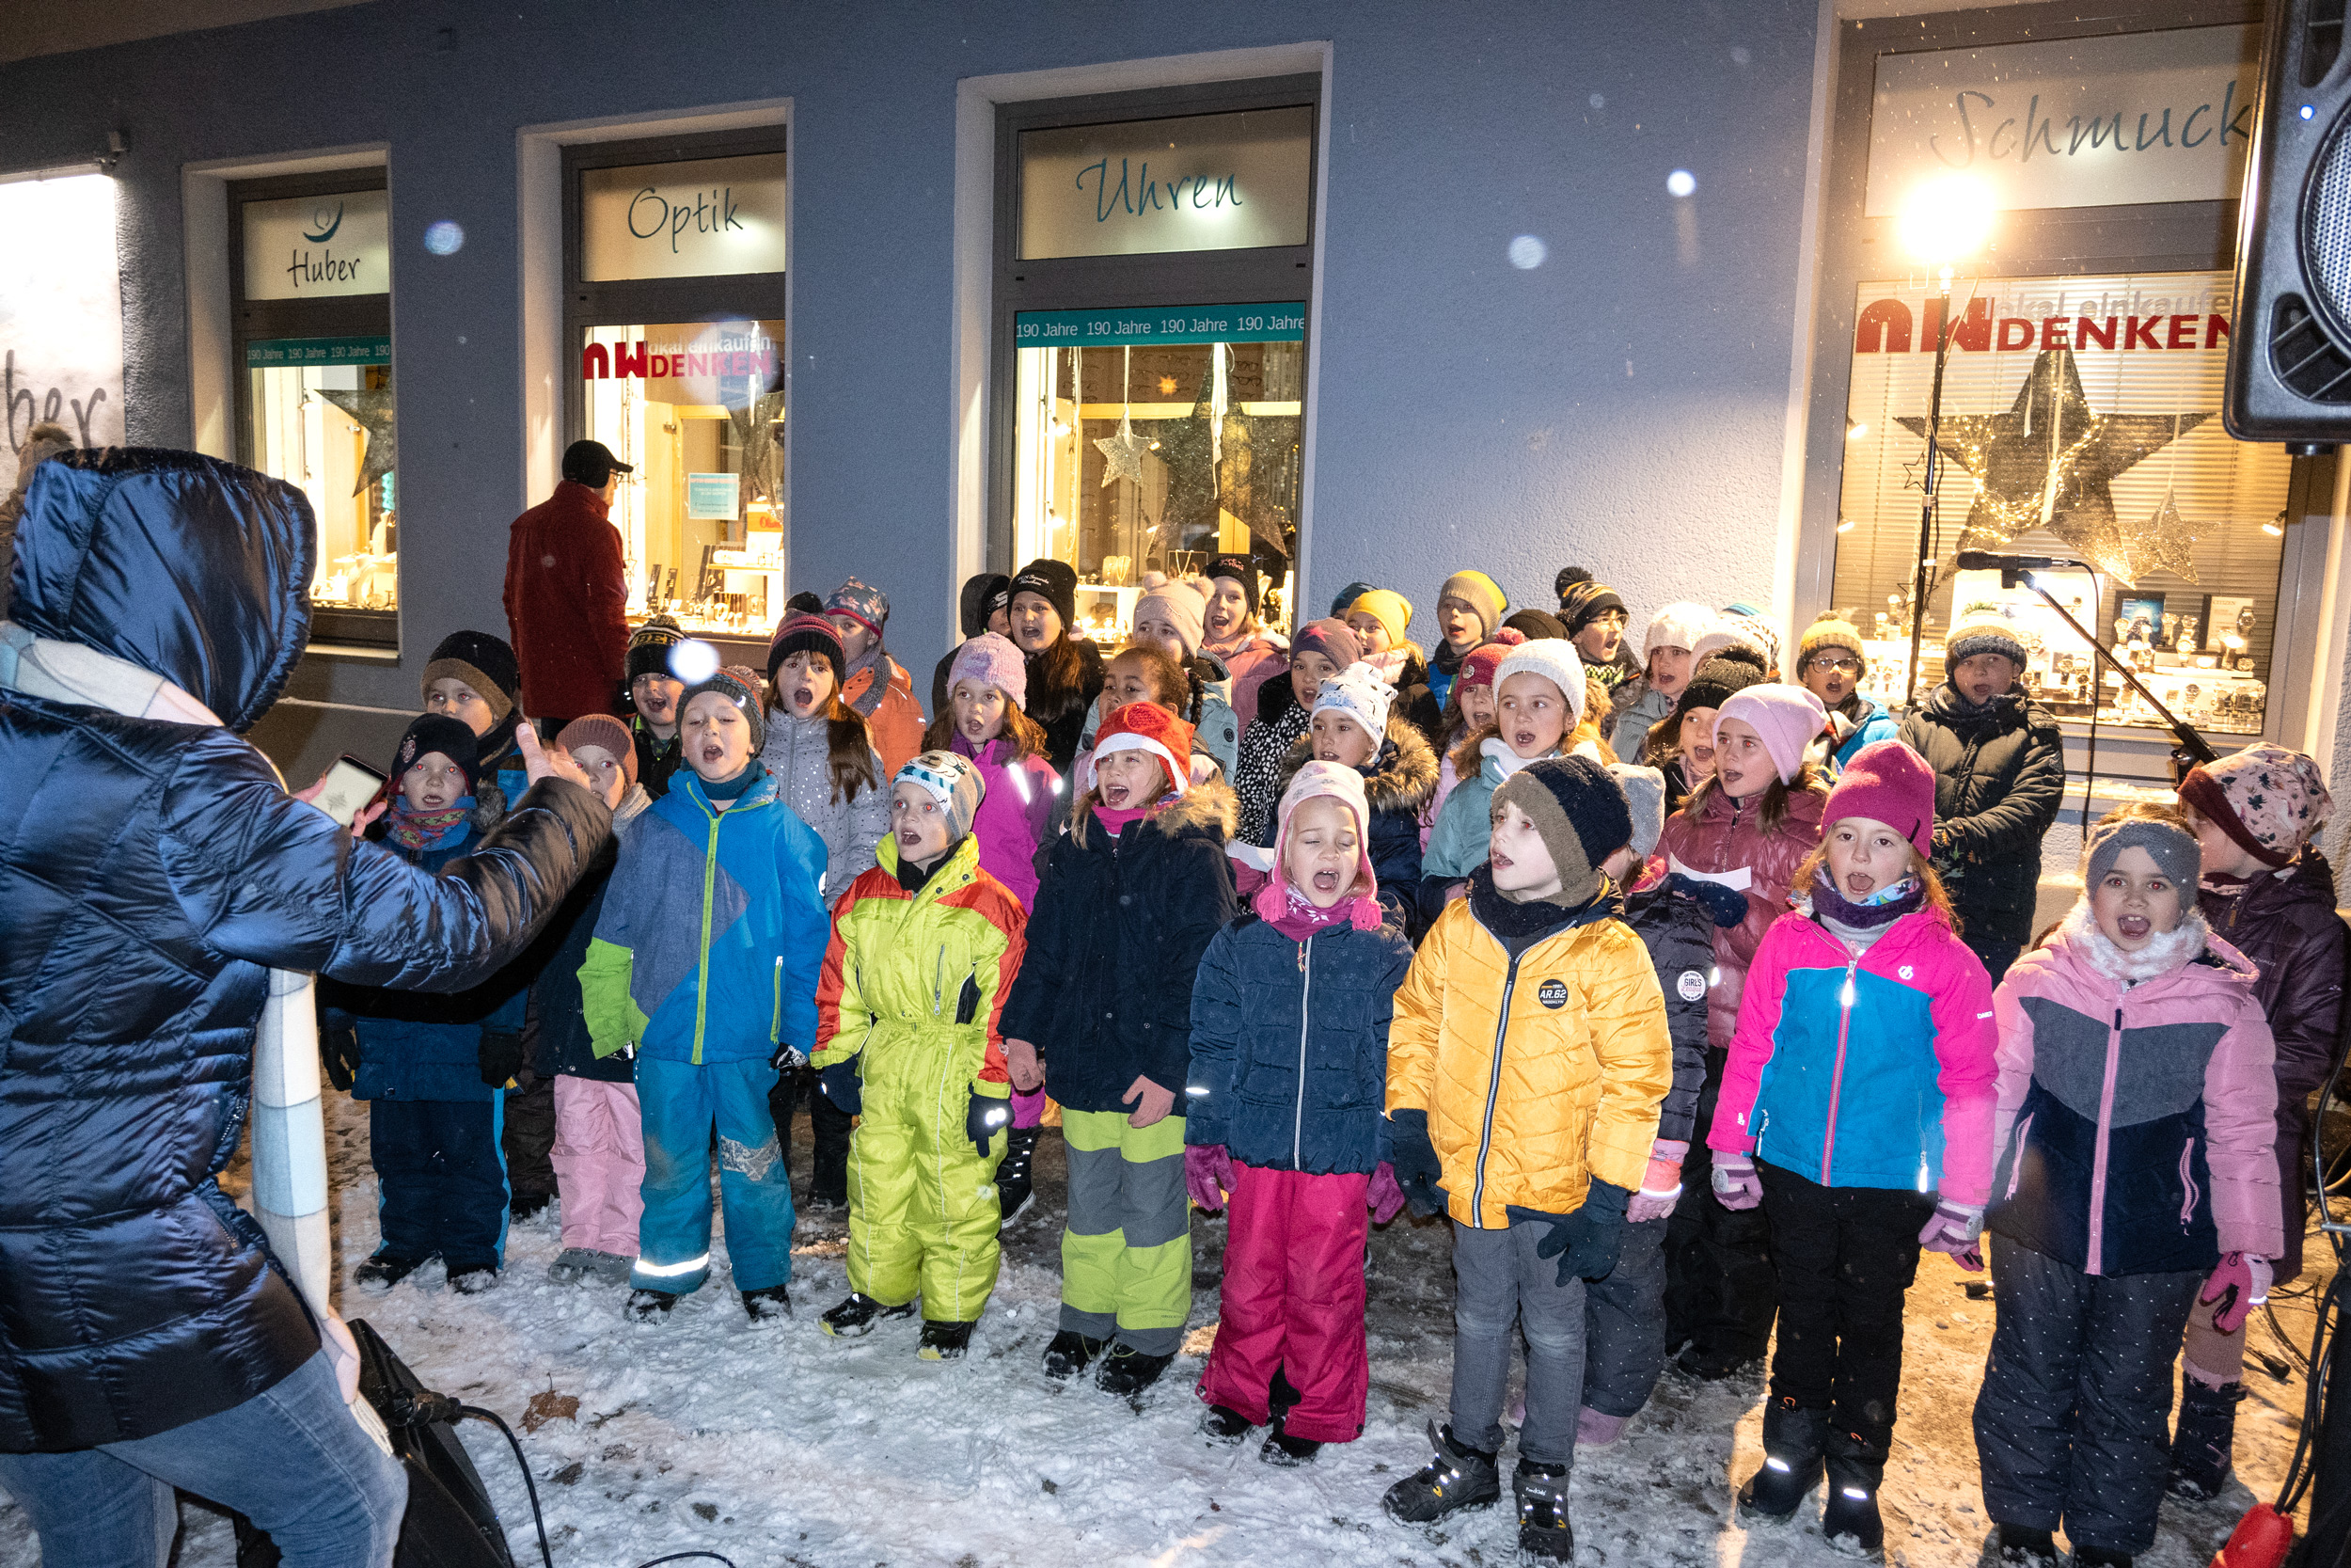
[[[536,741],[534,785],[437,877],[289,797],[242,731],[303,654],[315,550],[299,489],[183,451],[71,451],[26,496],[0,623],[0,1486],[52,1561],[160,1563],[181,1486],[289,1561],[390,1563],[404,1479],[346,1408],[327,1312],[308,976],[477,985],[611,832]],[[219,1187],[249,1112],[261,1220]]]

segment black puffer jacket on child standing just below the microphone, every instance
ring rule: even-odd
[[[2022,691],[1980,710],[1944,682],[1902,719],[1902,743],[1935,769],[1935,870],[1968,940],[2034,938],[2041,839],[2064,802],[2064,733]]]

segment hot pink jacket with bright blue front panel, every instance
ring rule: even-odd
[[[1900,917],[1853,957],[1789,910],[1747,969],[1707,1147],[1822,1187],[1991,1187],[1991,976],[1942,910]]]

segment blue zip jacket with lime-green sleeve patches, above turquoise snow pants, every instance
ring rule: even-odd
[[[816,1044],[816,973],[832,940],[825,842],[759,778],[726,811],[679,769],[621,835],[581,964],[597,1056],[736,1063]]]

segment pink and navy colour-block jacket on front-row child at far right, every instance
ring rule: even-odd
[[[1994,1229],[2085,1274],[2276,1258],[2278,1079],[2255,969],[2201,914],[2125,954],[2088,900],[1994,1011]]]

